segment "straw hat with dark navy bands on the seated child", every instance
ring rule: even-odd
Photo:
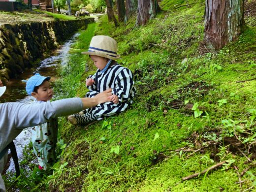
[[[117,55],[117,42],[110,36],[105,35],[94,36],[88,51],[82,52],[82,54],[96,55],[111,60],[120,58],[120,55]]]

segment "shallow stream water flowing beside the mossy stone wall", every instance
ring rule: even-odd
[[[4,95],[0,97],[0,102],[32,102],[33,97],[27,96],[27,93],[25,91],[26,84],[22,82],[22,79],[28,79],[34,73],[40,73],[40,75],[43,76],[51,76],[50,81],[55,81],[58,66],[67,64],[69,55],[68,51],[70,49],[70,46],[75,42],[76,38],[79,36],[79,34],[80,33],[75,33],[70,40],[67,40],[64,43],[64,45],[62,45],[59,49],[54,51],[51,57],[41,61],[37,65],[37,67],[25,70],[17,79],[11,79],[6,84],[7,89]],[[23,149],[25,145],[27,145],[31,140],[31,134],[31,129],[26,128],[14,140],[19,161],[23,157]],[[12,159],[10,160],[7,171],[15,171]]]

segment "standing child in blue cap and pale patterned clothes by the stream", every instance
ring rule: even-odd
[[[35,103],[49,101],[53,96],[53,90],[49,80],[51,77],[41,76],[39,73],[33,75],[26,84],[28,95],[35,98]],[[32,145],[38,160],[38,168],[46,170],[55,162],[55,148],[58,134],[58,119],[50,119],[39,126],[32,127]]]

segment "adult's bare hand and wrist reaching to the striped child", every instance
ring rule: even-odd
[[[83,103],[83,108],[84,109],[92,108],[100,103],[111,101],[111,98],[110,98],[110,96],[112,96],[111,91],[112,89],[108,89],[104,92],[97,94],[93,98],[81,98]]]

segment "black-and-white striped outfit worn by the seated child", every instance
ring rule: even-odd
[[[96,107],[84,110],[84,115],[75,115],[78,124],[84,124],[99,120],[104,116],[120,113],[126,110],[128,105],[132,103],[132,98],[135,96],[136,90],[134,81],[132,80],[133,75],[128,68],[116,63],[110,65],[103,74],[100,69],[97,69],[96,73],[90,75],[88,78],[94,79],[95,82],[92,86],[87,86],[89,92],[85,97],[94,97],[112,88],[112,94],[118,96],[119,103],[114,104],[112,101],[105,102],[98,104]]]

